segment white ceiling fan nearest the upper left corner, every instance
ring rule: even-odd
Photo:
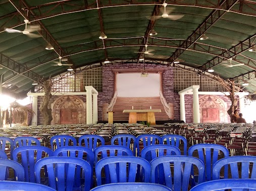
[[[39,34],[32,33],[32,32],[35,32],[35,31],[38,31],[41,29],[39,25],[27,25],[27,24],[29,24],[29,21],[27,19],[25,19],[24,22],[25,22],[24,31],[20,31],[20,30],[16,30],[16,29],[9,29],[9,28],[5,28],[5,31],[8,33],[23,33],[24,35],[27,35],[30,38],[41,37],[41,35],[39,35]]]

